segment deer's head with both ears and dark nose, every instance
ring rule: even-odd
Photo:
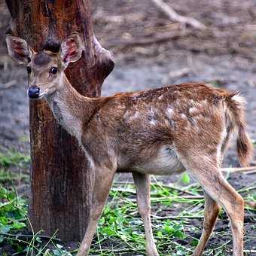
[[[76,62],[83,51],[81,38],[73,34],[62,41],[58,53],[43,50],[36,53],[22,38],[6,37],[8,53],[15,61],[27,65],[28,96],[41,99],[62,87],[64,70],[69,62]]]

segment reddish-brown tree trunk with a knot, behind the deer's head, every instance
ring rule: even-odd
[[[114,68],[110,53],[93,35],[90,0],[7,0],[12,23],[8,32],[24,38],[39,52],[56,48],[79,32],[84,53],[69,65],[66,75],[84,96],[99,96],[102,82]],[[47,103],[29,102],[31,144],[31,200],[29,220],[36,231],[79,241],[89,218],[93,173],[74,138],[56,123]],[[100,146],[100,145],[99,145]]]

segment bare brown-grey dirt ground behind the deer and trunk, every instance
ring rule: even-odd
[[[173,23],[151,0],[92,1],[96,36],[115,57],[115,69],[105,80],[102,95],[184,81],[203,81],[239,90],[248,102],[248,132],[256,140],[256,2],[166,2],[179,14],[200,20],[207,29],[198,31]],[[3,2],[0,11],[3,35],[9,20]],[[0,110],[0,149],[29,152],[26,69],[8,58],[4,36],[0,39]],[[224,166],[230,165],[238,166],[233,146],[224,160]],[[236,188],[255,180],[256,175],[242,173],[229,178]],[[251,237],[245,242],[247,250],[256,248],[256,230],[251,229],[254,220],[245,219],[245,230]],[[228,228],[228,225],[220,221],[217,228],[221,227]],[[213,237],[210,244],[221,244],[224,239]]]

